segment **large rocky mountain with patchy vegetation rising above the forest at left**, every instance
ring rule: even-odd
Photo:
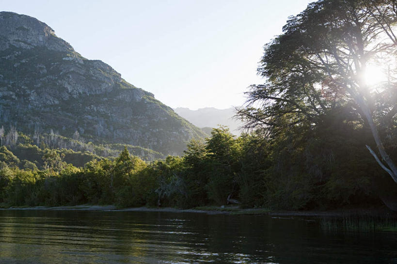
[[[36,18],[0,12],[0,125],[181,154],[204,133]],[[77,133],[78,132],[78,133]]]

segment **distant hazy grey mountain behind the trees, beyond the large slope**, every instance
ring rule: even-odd
[[[218,127],[219,124],[228,126],[230,131],[237,136],[241,134],[239,127],[242,126],[242,122],[233,117],[236,114],[234,108],[216,109],[207,107],[191,110],[178,107],[174,111],[192,124],[201,127],[206,134],[208,134],[209,127]]]

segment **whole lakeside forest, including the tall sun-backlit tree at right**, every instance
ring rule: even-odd
[[[0,202],[397,210],[396,22],[395,1],[309,4],[264,47],[266,81],[237,111],[247,133],[220,126],[182,156],[105,157],[1,129]]]

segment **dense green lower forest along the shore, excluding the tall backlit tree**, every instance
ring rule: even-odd
[[[366,151],[368,129],[342,120],[335,114],[321,127],[299,127],[274,139],[260,130],[235,138],[219,127],[206,141],[192,140],[183,156],[152,162],[130,155],[127,147],[115,158],[103,158],[28,143],[8,146],[16,156],[3,146],[0,202],[178,208],[230,203],[274,209],[379,206],[379,197],[394,194],[395,184]],[[76,167],[65,160],[89,161]]]

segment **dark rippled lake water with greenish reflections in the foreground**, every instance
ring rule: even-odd
[[[397,232],[347,230],[343,221],[4,210],[0,263],[397,263]]]

